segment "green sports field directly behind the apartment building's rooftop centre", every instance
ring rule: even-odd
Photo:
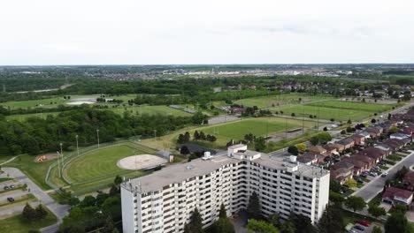
[[[310,128],[316,123],[309,121],[300,121],[295,119],[283,119],[279,117],[258,117],[248,118],[245,120],[229,122],[226,124],[217,124],[205,128],[199,128],[198,131],[204,133],[214,134],[218,138],[226,139],[243,139],[244,135],[249,132],[256,136],[265,136],[266,132],[269,135],[276,132],[283,132],[285,127],[289,129],[302,128],[302,123],[305,128]]]

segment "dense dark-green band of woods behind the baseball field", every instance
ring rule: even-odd
[[[3,116],[4,117],[4,116]],[[0,121],[0,154],[40,154],[56,151],[59,143],[64,148],[75,145],[79,136],[80,145],[90,145],[97,141],[113,141],[141,135],[153,137],[180,129],[188,124],[202,124],[207,116],[196,113],[193,116],[131,115],[127,112],[119,116],[109,110],[79,109],[65,111],[58,116],[27,118],[24,122]]]

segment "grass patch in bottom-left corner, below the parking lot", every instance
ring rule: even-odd
[[[49,209],[47,211],[48,215],[41,221],[27,222],[21,214],[0,220],[1,231],[7,233],[28,232],[31,229],[39,230],[58,222],[55,214],[52,214]]]

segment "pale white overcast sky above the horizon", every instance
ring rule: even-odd
[[[0,65],[414,63],[412,0],[10,0]]]

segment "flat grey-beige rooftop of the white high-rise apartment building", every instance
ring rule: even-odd
[[[246,155],[259,154],[258,152],[249,151],[237,152],[237,154],[245,153]],[[304,177],[323,177],[329,173],[328,170],[319,169],[317,167],[298,164],[297,162],[288,162],[286,157],[271,157],[268,154],[261,154],[254,160],[247,158],[238,159],[227,155],[213,156],[209,160],[196,159],[187,163],[180,163],[168,166],[164,169],[156,171],[145,177],[138,177],[130,182],[124,183],[125,188],[130,192],[136,190],[141,193],[157,191],[169,184],[178,184],[182,181],[203,175],[210,174],[227,164],[233,164],[241,161],[256,162],[262,166],[272,169],[287,170]]]

